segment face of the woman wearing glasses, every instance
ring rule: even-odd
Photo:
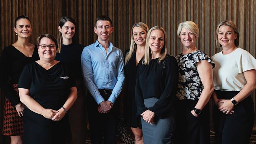
[[[41,44],[46,44],[47,48],[43,49],[41,46],[38,47],[38,54],[39,54],[40,60],[54,61],[57,50],[56,50],[56,47],[53,49],[49,48],[49,45],[51,44],[56,45],[56,43],[47,37],[43,37],[39,45]]]

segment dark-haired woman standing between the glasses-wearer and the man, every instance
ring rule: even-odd
[[[74,144],[85,144],[86,113],[85,94],[81,71],[81,54],[84,46],[76,44],[72,39],[75,35],[76,22],[71,17],[61,17],[59,20],[58,53],[55,60],[67,63],[76,79],[77,100],[69,112],[70,137]]]

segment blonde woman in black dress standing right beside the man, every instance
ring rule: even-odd
[[[126,85],[126,126],[131,127],[134,133],[135,144],[143,144],[141,118],[136,116],[135,85],[137,65],[145,54],[145,44],[148,32],[147,24],[138,22],[132,27],[130,49],[125,52],[125,85]]]

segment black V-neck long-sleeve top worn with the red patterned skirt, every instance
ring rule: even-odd
[[[13,84],[18,84],[24,66],[37,60],[39,60],[39,55],[36,45],[32,57],[27,57],[12,45],[7,46],[2,51],[0,83],[4,95],[13,107],[20,103],[19,96],[13,90]]]

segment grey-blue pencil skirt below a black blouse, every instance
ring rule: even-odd
[[[144,99],[145,107],[152,107],[158,101],[157,98]],[[160,119],[155,115],[153,125],[141,118],[144,144],[171,144],[174,118],[170,114]]]

